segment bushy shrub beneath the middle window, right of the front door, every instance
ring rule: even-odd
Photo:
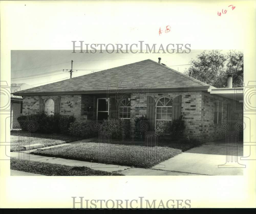
[[[130,136],[130,120],[122,118],[113,118],[111,120],[105,120],[102,123],[101,132],[111,132],[113,139],[122,139]]]

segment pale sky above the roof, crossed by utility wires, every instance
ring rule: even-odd
[[[71,69],[72,77],[90,74],[113,67],[118,67],[146,59],[161,63],[184,73],[189,68],[190,60],[204,50],[191,50],[190,53],[71,53],[72,50],[12,50],[11,51],[11,83],[26,83],[33,87],[46,85],[70,78],[67,70]],[[210,51],[210,50],[206,50]],[[222,50],[221,53],[227,53]],[[63,71],[64,69],[64,71]]]

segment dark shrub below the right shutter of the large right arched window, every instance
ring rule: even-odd
[[[170,133],[173,140],[183,137],[184,130],[186,129],[183,115],[178,119],[169,122],[168,132]]]

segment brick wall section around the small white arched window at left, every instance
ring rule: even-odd
[[[81,116],[82,99],[81,94],[76,95],[49,95],[49,96],[23,96],[23,115],[35,114],[39,112],[39,99],[44,103],[48,99],[57,99],[60,97],[60,114]],[[69,103],[68,103],[69,102]]]

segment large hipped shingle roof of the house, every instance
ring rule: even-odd
[[[20,91],[20,94],[42,94],[48,92],[86,93],[87,91],[103,91],[107,90],[108,87],[113,84],[118,84],[118,86],[120,86],[121,82],[124,81],[134,81],[136,86],[143,84],[143,87],[147,87],[148,89],[210,87],[210,85],[204,82],[148,59],[102,70],[92,74],[74,77],[72,79],[26,89]]]

